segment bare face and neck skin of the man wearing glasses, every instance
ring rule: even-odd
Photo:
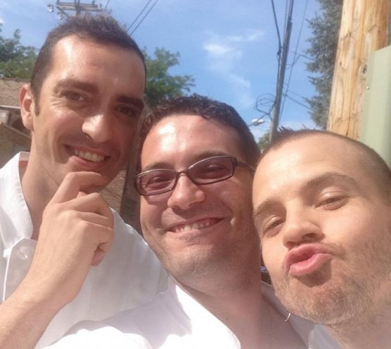
[[[244,161],[235,129],[197,115],[167,116],[142,147],[142,171],[183,171],[216,155]],[[241,348],[302,345],[263,301],[259,238],[252,222],[252,176],[245,166],[219,183],[196,185],[182,174],[173,191],[141,198],[144,238],[175,281],[221,319]],[[283,336],[271,338],[273,323]]]

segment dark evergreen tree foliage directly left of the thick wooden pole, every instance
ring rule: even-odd
[[[317,94],[307,99],[314,123],[325,129],[330,108],[330,94],[333,84],[335,55],[337,53],[338,33],[342,16],[342,0],[318,0],[321,13],[309,20],[312,37],[306,54],[313,61],[306,63],[306,69],[314,75],[310,81]]]

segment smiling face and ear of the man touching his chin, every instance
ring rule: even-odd
[[[144,66],[135,52],[75,35],[61,39],[39,101],[27,87],[21,94],[32,130],[26,175],[49,192],[70,171],[98,172],[108,183],[128,160],[143,93]]]

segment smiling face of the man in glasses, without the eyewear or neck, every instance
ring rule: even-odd
[[[147,135],[141,166],[142,171],[182,171],[216,155],[243,161],[239,149],[239,137],[228,126],[196,115],[166,116]],[[251,186],[252,171],[238,166],[231,178],[218,183],[195,185],[182,175],[174,190],[141,198],[144,238],[178,281],[233,270],[250,259],[256,267],[259,240],[252,225]]]

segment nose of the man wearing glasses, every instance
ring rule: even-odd
[[[205,197],[206,193],[203,188],[194,184],[185,173],[182,173],[175,188],[170,192],[167,204],[171,208],[189,209],[195,204],[203,202]]]

